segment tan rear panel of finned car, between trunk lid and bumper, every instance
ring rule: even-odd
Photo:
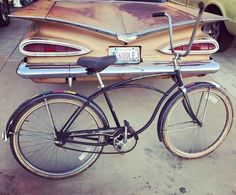
[[[40,30],[39,30],[40,29]],[[178,33],[178,31],[183,31]],[[185,42],[188,41],[191,33],[192,26],[177,28],[175,31],[175,42]],[[78,36],[79,35],[79,36]],[[208,38],[202,31],[198,31],[198,37]],[[153,33],[152,35],[142,37],[140,39],[134,40],[129,43],[125,43],[118,39],[111,38],[110,36],[105,36],[100,33],[95,33],[93,31],[87,31],[84,29],[78,29],[72,26],[67,26],[60,23],[51,23],[48,22],[37,22],[34,23],[32,29],[26,35],[25,38],[48,38],[50,40],[66,40],[68,43],[75,43],[82,47],[88,48],[91,50],[88,56],[105,56],[108,54],[108,48],[110,46],[140,46],[142,48],[142,59],[143,61],[170,61],[172,55],[164,54],[159,51],[159,48],[164,48],[169,45],[169,36],[168,32],[162,31]],[[84,41],[86,40],[86,41]],[[28,62],[30,63],[39,63],[39,62],[70,62],[76,63],[79,56],[68,56],[68,57],[28,57]],[[209,59],[209,54],[206,55],[192,55],[184,58],[184,61],[188,60],[207,60]]]

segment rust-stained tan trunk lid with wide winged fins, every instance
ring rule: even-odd
[[[22,10],[18,10],[10,16],[29,20],[60,22],[115,36],[138,34],[138,32],[153,29],[154,27],[165,30],[167,27],[166,19],[151,17],[152,13],[159,11],[165,11],[170,14],[174,26],[193,24],[194,16],[197,15],[197,12],[191,12],[192,10],[190,12],[184,11],[180,7],[176,8],[170,4],[106,1],[40,1]],[[208,20],[215,21],[222,20],[222,18],[205,14],[203,21]],[[114,22],[116,25],[114,25]]]

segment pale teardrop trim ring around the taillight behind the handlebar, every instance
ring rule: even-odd
[[[195,44],[195,43],[212,43],[213,45],[215,45],[215,49],[213,49],[213,50],[190,51],[190,54],[201,54],[201,55],[202,54],[213,54],[213,53],[215,53],[219,50],[219,44],[213,38],[204,38],[204,39],[194,40],[193,44]],[[182,45],[188,45],[188,44],[189,44],[189,40],[180,41],[180,42],[174,43],[174,48],[178,47],[178,46],[182,46]],[[165,53],[165,54],[172,54],[169,45],[162,48],[162,49],[159,49],[159,51],[161,51],[162,53]],[[175,50],[175,51],[180,53],[180,54],[185,53],[185,51],[178,51],[178,50]]]

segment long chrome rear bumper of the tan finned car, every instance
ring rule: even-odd
[[[198,63],[181,64],[180,70],[183,75],[205,75],[217,72],[220,65],[214,60]],[[112,76],[142,76],[159,73],[160,75],[171,75],[174,67],[170,63],[140,63],[138,65],[111,65],[101,72],[103,77]],[[87,71],[77,65],[55,65],[55,64],[27,64],[22,61],[17,69],[17,74],[23,78],[76,78],[88,77]]]

